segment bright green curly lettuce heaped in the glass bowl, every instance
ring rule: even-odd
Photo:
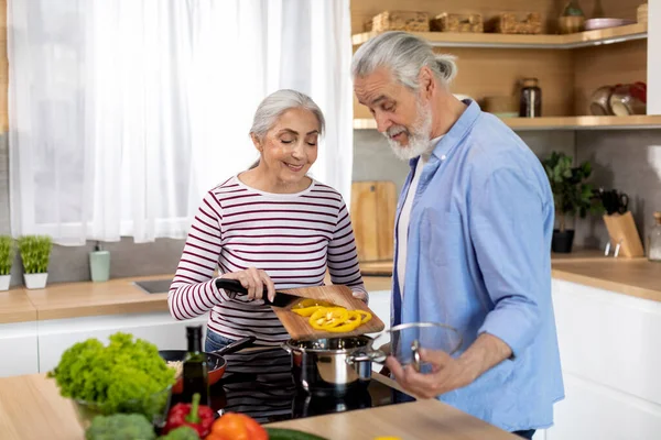
[[[75,343],[48,377],[55,378],[64,397],[94,403],[100,414],[153,417],[165,407],[174,374],[154,344],[118,332],[107,346],[95,338]]]

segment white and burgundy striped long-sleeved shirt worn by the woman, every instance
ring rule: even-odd
[[[277,289],[333,284],[366,292],[349,213],[339,193],[316,180],[296,194],[251,188],[237,176],[204,197],[167,297],[172,316],[191,319],[210,311],[208,329],[256,344],[289,339],[270,306],[230,298],[215,286],[219,274],[257,267]]]

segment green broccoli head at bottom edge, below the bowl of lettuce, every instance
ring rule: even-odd
[[[86,440],[154,440],[154,427],[141,414],[97,416],[85,431]]]

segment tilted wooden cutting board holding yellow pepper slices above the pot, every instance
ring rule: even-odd
[[[307,322],[307,317],[301,317],[291,311],[292,306],[289,306],[286,308],[272,306],[273,311],[280,319],[280,322],[282,322],[286,331],[290,333],[290,337],[292,339],[311,340],[324,338],[344,338],[365,333],[378,333],[380,331],[383,331],[383,329],[386,328],[383,321],[381,321],[379,317],[373,311],[371,311],[365,302],[362,302],[360,299],[354,298],[354,296],[351,295],[351,289],[349,289],[347,286],[332,285],[321,287],[300,287],[294,289],[279,289],[279,292],[300,296],[303,298],[313,298],[330,301],[336,306],[345,307],[347,310],[365,310],[370,312],[372,316],[371,320],[359,326],[357,329],[350,332],[334,333],[330,331],[316,330],[312,328],[312,326],[310,326],[310,323]]]

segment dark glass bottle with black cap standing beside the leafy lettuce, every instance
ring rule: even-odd
[[[206,354],[202,350],[202,326],[186,327],[188,352],[184,358],[182,400],[193,402],[199,393],[201,405],[209,405],[209,380]]]

